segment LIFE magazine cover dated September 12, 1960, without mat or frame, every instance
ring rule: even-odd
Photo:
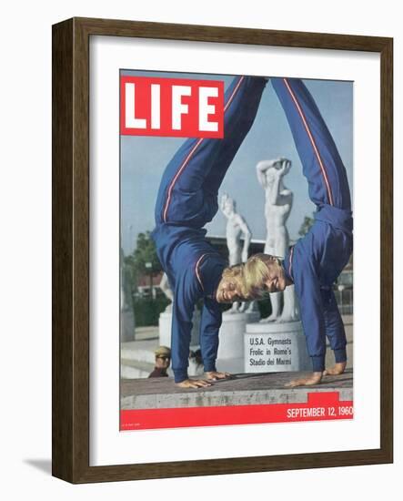
[[[353,83],[121,70],[120,429],[353,418]]]

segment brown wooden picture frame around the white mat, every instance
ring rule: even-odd
[[[380,54],[380,447],[315,454],[89,465],[89,38],[126,36]],[[393,40],[73,18],[53,26],[53,475],[72,483],[393,461]]]

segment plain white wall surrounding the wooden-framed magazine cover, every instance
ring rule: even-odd
[[[6,6],[5,6],[6,5]],[[49,475],[51,426],[51,25],[73,15],[245,26],[395,37],[395,186],[403,188],[401,16],[398,2],[247,3],[205,0],[149,0],[106,2],[11,2],[3,6],[2,77],[0,80],[1,147],[0,214],[3,246],[0,251],[0,412],[2,489],[23,499],[33,495],[59,500],[76,496],[99,500],[111,496],[148,499],[214,498],[234,496],[331,501],[358,496],[385,496],[400,486],[402,472],[402,353],[396,328],[395,465],[323,469],[271,474],[213,476],[70,486]],[[396,196],[396,282],[402,276],[402,198]],[[395,325],[402,319],[401,287],[396,288]],[[370,347],[368,347],[370,360]],[[368,362],[370,391],[370,362]],[[401,490],[401,489],[399,489]],[[13,492],[14,491],[14,492]],[[35,494],[34,494],[35,493]]]

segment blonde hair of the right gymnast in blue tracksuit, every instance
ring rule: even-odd
[[[258,299],[267,296],[268,292],[264,288],[269,278],[269,267],[278,262],[279,259],[276,256],[263,253],[255,254],[247,260],[244,281],[248,297]]]

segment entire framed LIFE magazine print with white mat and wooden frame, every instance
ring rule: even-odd
[[[392,462],[392,47],[53,27],[55,476]]]

